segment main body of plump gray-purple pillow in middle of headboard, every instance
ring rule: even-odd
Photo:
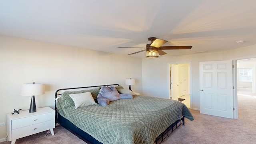
[[[114,86],[102,86],[102,88],[100,89],[100,92],[97,96],[97,99],[98,97],[105,97],[105,98],[108,98],[111,101],[114,101],[114,100],[119,100],[121,97],[120,97],[120,94],[118,93],[118,91],[116,90],[116,88]]]

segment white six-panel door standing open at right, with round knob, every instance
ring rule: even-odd
[[[232,61],[200,62],[200,113],[233,117]]]

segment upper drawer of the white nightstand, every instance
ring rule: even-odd
[[[46,122],[49,120],[53,120],[55,113],[54,112],[49,112],[46,114],[39,114],[35,116],[28,116],[26,118],[19,118],[16,120],[12,120],[12,130],[17,129],[17,128],[22,128],[24,126],[30,126],[33,124],[38,124],[41,122]]]

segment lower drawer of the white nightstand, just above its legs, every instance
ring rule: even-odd
[[[47,122],[42,122],[39,124],[33,124],[30,126],[25,126],[22,128],[17,128],[12,130],[11,139],[18,139],[24,136],[29,136],[32,134],[36,134],[38,132],[43,132],[49,130],[50,128],[54,128],[54,120],[49,120]]]

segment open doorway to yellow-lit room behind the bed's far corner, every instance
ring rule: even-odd
[[[190,108],[190,63],[173,63],[169,68],[169,98],[178,100]]]

